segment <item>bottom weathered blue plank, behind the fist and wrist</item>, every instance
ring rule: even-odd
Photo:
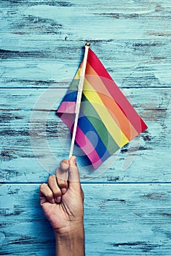
[[[83,184],[86,255],[170,255],[170,184]],[[39,184],[0,187],[1,255],[54,255]]]

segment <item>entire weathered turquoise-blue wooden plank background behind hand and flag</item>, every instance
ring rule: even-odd
[[[170,0],[0,1],[0,255],[55,253],[39,185],[68,157],[55,110],[87,40],[148,129],[96,172],[78,157],[86,255],[171,255],[170,12]]]

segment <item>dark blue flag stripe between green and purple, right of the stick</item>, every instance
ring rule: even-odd
[[[88,140],[90,140],[92,146],[94,146],[95,151],[98,153],[100,159],[106,159],[111,156],[111,154],[108,152],[108,149],[103,144],[103,141],[101,140],[100,136],[96,132],[95,128],[92,126],[89,119],[86,116],[84,116],[83,113],[81,113],[79,117],[78,126],[81,129],[81,131],[84,132],[84,135],[86,135]]]

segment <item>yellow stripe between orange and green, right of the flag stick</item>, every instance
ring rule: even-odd
[[[98,112],[98,115],[103,121],[103,124],[105,124],[106,129],[108,129],[108,132],[110,132],[111,137],[114,138],[118,146],[122,148],[122,146],[127,144],[129,140],[124,135],[119,126],[116,124],[114,118],[112,118],[111,114],[108,112],[98,93],[95,91],[95,89],[93,89],[93,87],[86,79],[84,79],[83,93],[85,97],[87,97],[87,99],[91,102],[95,110]]]

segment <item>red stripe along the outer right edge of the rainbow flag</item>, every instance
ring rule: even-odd
[[[121,108],[124,115],[127,116],[133,127],[135,127],[138,133],[143,132],[143,130],[147,128],[146,124],[142,118],[140,118],[130,102],[128,102],[127,98],[124,97],[122,91],[118,88],[118,86],[116,86],[116,83],[114,80],[112,80],[111,76],[98,59],[98,56],[96,56],[91,49],[89,50],[87,61],[98,76],[100,76],[100,79],[105,84],[106,89],[108,89],[109,93],[119,105],[119,108]]]

